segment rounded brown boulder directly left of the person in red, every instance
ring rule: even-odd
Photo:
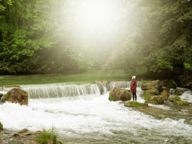
[[[126,89],[114,88],[109,93],[110,101],[128,101],[131,100],[131,92]]]

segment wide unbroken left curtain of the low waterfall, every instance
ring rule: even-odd
[[[30,98],[58,98],[67,96],[85,96],[100,94],[96,84],[44,84],[21,87]]]

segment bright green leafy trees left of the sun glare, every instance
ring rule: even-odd
[[[76,52],[68,51],[55,9],[60,1],[8,0],[0,4],[0,73],[79,72]],[[54,23],[53,23],[54,21]],[[51,50],[49,50],[51,49]]]

